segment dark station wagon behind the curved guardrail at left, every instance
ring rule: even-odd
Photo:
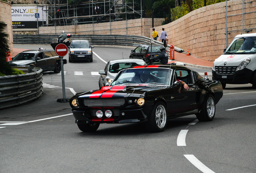
[[[25,50],[8,61],[11,66],[34,66],[43,71],[61,71],[60,57],[54,50]]]

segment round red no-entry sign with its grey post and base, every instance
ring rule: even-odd
[[[63,94],[63,99],[57,99],[57,102],[68,102],[68,99],[66,99],[66,94],[65,94],[65,81],[64,81],[64,67],[63,67],[63,56],[66,56],[68,53],[68,47],[65,44],[58,44],[55,47],[55,52],[58,56],[60,56],[60,65],[61,65],[61,78],[62,78],[62,94]]]

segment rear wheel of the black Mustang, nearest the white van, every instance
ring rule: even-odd
[[[212,95],[206,97],[204,103],[202,104],[202,109],[196,118],[199,121],[212,121],[215,116],[215,101]]]

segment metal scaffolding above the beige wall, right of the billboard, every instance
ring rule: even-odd
[[[44,9],[47,14],[47,22],[43,26],[96,23],[97,17],[101,22],[142,18],[141,0],[140,4],[134,0],[87,0],[80,4],[76,2],[75,0],[71,3],[68,3],[68,0],[43,0],[43,4],[37,4],[38,8]],[[95,14],[97,4],[101,8],[100,14]],[[140,9],[138,9],[139,6]]]

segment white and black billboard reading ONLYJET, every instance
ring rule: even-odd
[[[37,28],[37,22],[38,26],[46,24],[45,10],[37,6],[12,6],[12,28]]]

